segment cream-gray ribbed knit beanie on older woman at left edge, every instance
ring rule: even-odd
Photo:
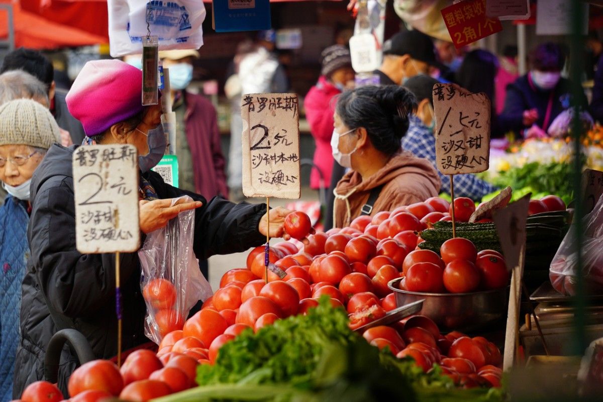
[[[48,149],[60,142],[57,122],[46,107],[31,99],[0,106],[0,145],[30,145]]]

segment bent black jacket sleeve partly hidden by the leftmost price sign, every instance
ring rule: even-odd
[[[75,202],[69,187],[37,194],[30,220],[30,247],[46,299],[68,317],[90,316],[115,298],[115,254],[75,249]],[[136,254],[121,254],[121,279],[138,273]]]

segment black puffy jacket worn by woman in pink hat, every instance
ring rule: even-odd
[[[75,249],[74,149],[53,145],[31,180],[33,209],[27,234],[31,258],[22,286],[21,340],[13,387],[16,399],[25,386],[43,379],[46,345],[57,331],[46,299],[63,320],[86,336],[96,357],[108,359],[117,354],[115,255],[83,255]],[[157,173],[144,176],[159,198],[188,194],[203,202],[195,211],[197,258],[241,252],[265,241],[257,231],[265,205],[236,205],[218,197],[207,203],[198,194],[167,185]],[[136,253],[121,254],[121,292],[122,348],[125,350],[149,342],[144,336],[146,309],[140,295],[140,264]],[[67,347],[61,363],[58,384],[65,392],[66,380],[77,367],[77,359]]]

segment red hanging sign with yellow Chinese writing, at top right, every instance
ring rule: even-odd
[[[502,31],[499,19],[486,17],[486,0],[461,1],[441,13],[457,49]]]

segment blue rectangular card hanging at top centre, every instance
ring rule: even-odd
[[[270,0],[213,0],[212,26],[216,32],[269,30]]]

